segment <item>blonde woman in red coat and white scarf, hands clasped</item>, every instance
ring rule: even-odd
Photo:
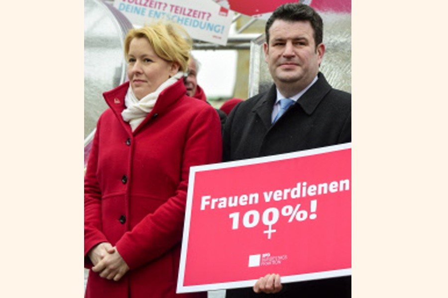
[[[86,297],[207,297],[175,293],[189,169],[222,157],[218,114],[186,95],[191,44],[172,23],[126,35],[84,180]]]

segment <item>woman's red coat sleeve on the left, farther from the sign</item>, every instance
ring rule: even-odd
[[[95,137],[92,141],[92,149],[84,176],[84,266],[86,268],[90,268],[93,265],[87,257],[87,253],[98,243],[108,242],[107,237],[102,232],[101,190],[96,175],[100,122],[101,119],[98,121]]]

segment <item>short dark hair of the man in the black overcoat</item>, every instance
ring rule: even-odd
[[[322,43],[324,24],[319,13],[312,7],[302,3],[286,3],[278,6],[266,22],[266,42],[269,44],[269,29],[275,20],[288,22],[309,21],[314,30],[314,41],[317,45]]]

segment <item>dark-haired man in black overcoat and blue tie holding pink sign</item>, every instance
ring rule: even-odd
[[[325,53],[321,16],[305,4],[283,4],[267,20],[265,34],[274,84],[230,112],[224,161],[351,142],[351,94],[334,89],[319,71]],[[283,285],[280,275],[267,274],[253,288],[226,291],[226,298],[250,297],[348,298],[351,277]]]

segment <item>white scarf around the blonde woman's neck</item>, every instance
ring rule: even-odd
[[[151,112],[160,92],[177,82],[182,76],[183,73],[178,72],[163,82],[154,92],[149,93],[140,100],[135,97],[132,87],[129,85],[126,96],[124,97],[124,105],[126,106],[126,109],[121,112],[121,117],[123,117],[125,122],[129,122],[132,131],[134,131],[140,123],[143,122],[146,115]]]

